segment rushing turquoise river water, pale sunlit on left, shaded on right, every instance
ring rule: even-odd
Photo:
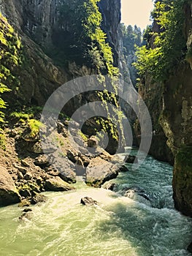
[[[76,184],[73,192],[45,193],[46,203],[0,208],[0,255],[188,256],[192,222],[174,210],[172,167],[147,157],[139,170],[120,173],[116,192]],[[123,197],[123,188],[133,189]],[[150,200],[134,193],[137,187]],[[132,190],[130,190],[132,191]],[[89,196],[99,206],[80,205]]]

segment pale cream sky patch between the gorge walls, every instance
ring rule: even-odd
[[[149,25],[152,0],[121,0],[121,23],[126,26],[135,24],[142,30]]]

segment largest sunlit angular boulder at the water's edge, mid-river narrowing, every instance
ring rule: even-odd
[[[106,181],[118,176],[118,166],[100,157],[91,159],[87,170],[85,183],[93,187],[101,187]]]

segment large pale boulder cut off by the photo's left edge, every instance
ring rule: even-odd
[[[12,176],[0,165],[0,206],[8,206],[20,202],[20,195],[16,189]]]

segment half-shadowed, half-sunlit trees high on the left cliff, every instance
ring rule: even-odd
[[[62,2],[58,7],[60,36],[56,44],[63,52],[63,61],[75,60],[77,64],[91,66],[104,75],[118,75],[118,68],[113,66],[112,49],[106,42],[107,35],[101,29],[99,1]]]

